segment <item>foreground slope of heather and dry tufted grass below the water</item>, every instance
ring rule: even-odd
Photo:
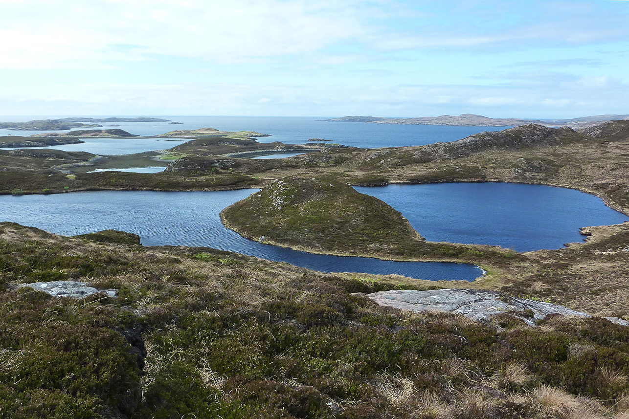
[[[408,316],[352,294],[386,282],[13,223],[0,223],[0,267],[3,417],[550,419],[629,407],[629,328],[602,319]],[[49,279],[120,297],[6,290]]]

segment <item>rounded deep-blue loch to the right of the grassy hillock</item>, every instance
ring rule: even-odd
[[[579,228],[629,217],[574,189],[513,183],[355,187],[400,211],[431,242],[499,245],[526,252],[581,242]]]

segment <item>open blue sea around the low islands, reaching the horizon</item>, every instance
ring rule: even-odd
[[[16,122],[51,118],[50,116],[11,117],[3,116],[2,121]],[[270,134],[271,137],[261,137],[259,142],[279,141],[289,144],[303,144],[308,138],[324,138],[333,143],[341,143],[351,147],[379,148],[402,147],[407,145],[425,145],[435,142],[449,142],[460,140],[469,135],[482,131],[500,131],[507,126],[437,126],[437,125],[385,125],[362,122],[323,122],[324,117],[280,117],[280,116],[160,116],[168,120],[181,122],[173,125],[169,122],[117,122],[121,130],[131,134],[148,136],[159,135],[174,130],[196,130],[198,128],[216,128],[222,131],[258,131]],[[103,125],[108,125],[104,123]],[[106,129],[93,128],[93,129]],[[83,129],[83,128],[78,128]],[[89,129],[89,128],[85,128]],[[31,135],[47,131],[10,131],[0,130],[0,135]],[[66,131],[67,132],[67,131]],[[154,148],[146,148],[150,140],[126,139],[116,143],[112,139],[84,138],[86,144],[58,145],[66,151],[87,151],[94,154],[130,154],[140,151],[170,148],[177,143],[155,143]],[[125,147],[125,152],[117,151],[116,147],[109,147],[116,143]],[[134,144],[142,144],[141,148],[133,148]],[[103,147],[102,149],[99,147]]]

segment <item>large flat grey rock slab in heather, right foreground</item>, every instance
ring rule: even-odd
[[[416,291],[394,289],[367,294],[375,303],[409,311],[444,311],[464,315],[472,320],[490,320],[492,316],[509,313],[529,325],[550,314],[589,317],[587,313],[575,311],[555,304],[526,298],[513,298],[496,291],[475,289],[433,289]],[[614,323],[629,325],[629,321],[608,317]]]

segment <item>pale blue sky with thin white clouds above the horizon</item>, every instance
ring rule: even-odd
[[[4,116],[629,114],[628,0],[0,0],[0,9]]]

